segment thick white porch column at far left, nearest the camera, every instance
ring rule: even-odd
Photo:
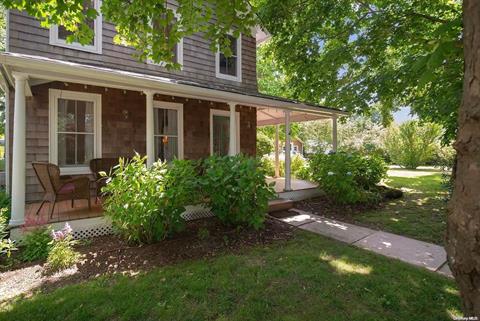
[[[12,217],[11,226],[25,223],[25,137],[26,137],[26,101],[25,84],[28,76],[14,74],[15,104],[13,114],[13,151],[12,151]],[[7,133],[8,134],[8,133]]]

